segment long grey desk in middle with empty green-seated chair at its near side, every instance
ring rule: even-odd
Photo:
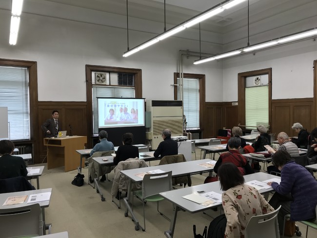
[[[124,216],[128,216],[128,212],[130,211],[131,216],[133,217],[133,221],[135,222],[135,229],[139,230],[139,227],[140,227],[139,221],[134,215],[132,208],[129,204],[129,200],[132,194],[131,193],[132,183],[141,183],[143,180],[142,178],[136,176],[135,175],[136,173],[147,173],[151,170],[161,170],[164,172],[172,171],[172,177],[180,177],[180,176],[197,174],[197,173],[205,173],[205,172],[211,172],[214,169],[205,168],[200,166],[199,164],[210,162],[210,161],[211,161],[210,159],[193,160],[193,161],[187,161],[187,162],[181,162],[181,163],[175,163],[175,164],[158,165],[153,167],[121,171],[121,173],[123,173],[129,179],[128,193],[127,193],[128,196],[123,198],[123,201],[126,205]]]

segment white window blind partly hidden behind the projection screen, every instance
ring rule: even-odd
[[[93,128],[98,134],[98,103],[97,98],[135,98],[134,87],[100,87],[93,86]]]

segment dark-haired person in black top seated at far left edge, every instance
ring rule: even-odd
[[[0,141],[0,179],[26,177],[27,170],[20,156],[12,156],[14,144],[10,140]]]

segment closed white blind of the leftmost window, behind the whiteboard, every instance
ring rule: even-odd
[[[10,140],[30,139],[27,67],[0,66],[0,107],[8,108]]]

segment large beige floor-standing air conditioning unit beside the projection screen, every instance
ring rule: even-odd
[[[162,130],[170,129],[172,136],[183,135],[183,102],[147,100],[146,111],[151,112],[151,127],[146,138],[151,141],[152,150],[163,141]]]

